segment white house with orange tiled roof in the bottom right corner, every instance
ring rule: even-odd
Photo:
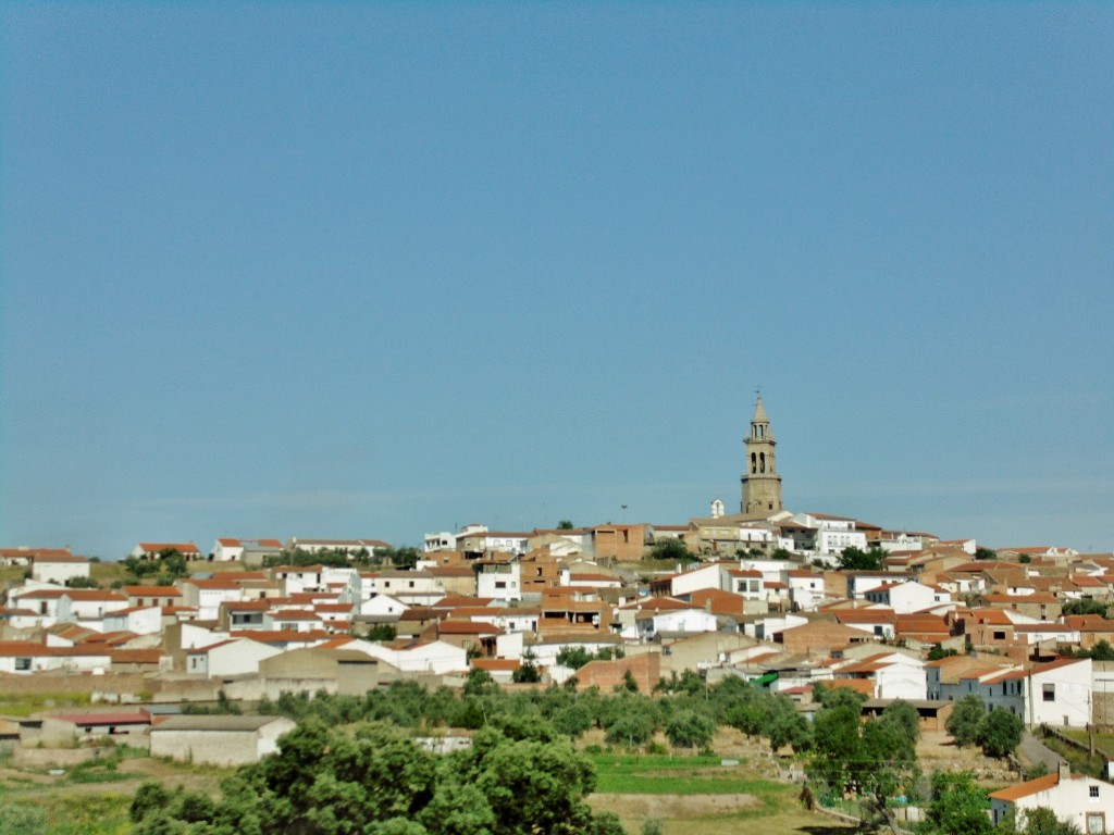
[[[1062,764],[1054,774],[1008,786],[989,797],[990,817],[996,826],[1013,812],[1020,829],[1027,812],[1046,808],[1058,821],[1075,824],[1079,832],[1088,835],[1114,829],[1114,786],[1094,777],[1071,774],[1067,764]]]

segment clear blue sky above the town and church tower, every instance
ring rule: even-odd
[[[0,7],[0,546],[1114,548],[1114,3]],[[626,509],[623,509],[626,505]]]

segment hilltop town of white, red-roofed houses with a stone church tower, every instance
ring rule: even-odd
[[[739,678],[805,714],[818,687],[848,688],[864,710],[902,700],[936,729],[970,694],[1029,728],[1114,724],[1114,553],[792,512],[761,399],[745,444],[739,512],[717,499],[683,523],[477,523],[421,548],[138,542],[119,562],[0,549],[0,691],[92,703],[0,730],[127,735],[153,755],[238,765],[292,724],[182,705],[362,696],[400,680],[460,688],[477,670],[508,686],[647,694],[678,676]],[[1055,806],[1051,788],[1043,804]],[[1091,796],[1114,819],[1114,795]]]

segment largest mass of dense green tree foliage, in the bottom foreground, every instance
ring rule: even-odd
[[[131,814],[135,835],[619,835],[585,803],[594,787],[568,743],[485,728],[438,759],[382,724],[349,733],[311,720],[221,798],[145,784]]]

